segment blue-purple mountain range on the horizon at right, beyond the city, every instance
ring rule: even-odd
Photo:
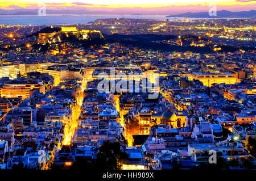
[[[256,18],[256,11],[232,12],[221,10],[217,11],[217,16],[210,16],[209,12],[186,12],[183,14],[168,15],[167,17],[185,17],[185,18]]]

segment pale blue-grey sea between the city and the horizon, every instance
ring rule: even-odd
[[[4,25],[71,25],[88,24],[97,19],[129,18],[129,19],[155,19],[155,20],[189,20],[204,18],[166,17],[166,15],[0,15],[0,24]]]

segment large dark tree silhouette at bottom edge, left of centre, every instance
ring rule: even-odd
[[[121,150],[119,142],[105,141],[97,154],[96,166],[104,170],[120,169],[120,163],[125,162],[127,158],[128,155]]]

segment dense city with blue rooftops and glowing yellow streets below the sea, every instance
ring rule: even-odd
[[[255,23],[0,25],[0,169],[256,169]]]

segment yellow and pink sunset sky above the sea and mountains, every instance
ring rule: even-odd
[[[208,11],[209,3],[217,5],[217,10],[256,10],[256,0],[0,0],[0,9],[39,9],[42,3],[48,10],[108,11],[124,14],[177,14],[188,11]]]

